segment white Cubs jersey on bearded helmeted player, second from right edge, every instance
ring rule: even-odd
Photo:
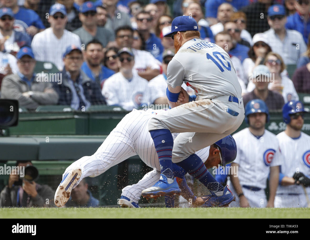
[[[269,168],[281,165],[282,155],[279,141],[273,133],[265,130],[259,139],[245,128],[232,136],[237,145],[239,164],[238,178],[242,185],[266,188]]]

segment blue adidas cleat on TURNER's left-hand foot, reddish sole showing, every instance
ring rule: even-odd
[[[167,178],[164,174],[161,174],[157,183],[142,191],[142,196],[148,199],[180,193],[181,189],[179,188],[176,178]]]

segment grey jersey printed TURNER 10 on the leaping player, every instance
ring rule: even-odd
[[[196,100],[222,95],[241,98],[241,86],[228,53],[205,40],[185,42],[168,64],[167,84],[175,88],[183,81],[194,89]]]

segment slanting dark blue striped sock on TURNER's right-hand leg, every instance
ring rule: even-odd
[[[224,187],[214,179],[205,164],[203,164],[202,160],[196,154],[190,155],[187,159],[177,163],[177,165],[184,168],[190,175],[203,183],[208,190],[215,192],[224,190]]]

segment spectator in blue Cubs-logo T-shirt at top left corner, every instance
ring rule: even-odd
[[[35,11],[18,6],[17,0],[2,2],[4,7],[11,8],[14,13],[14,29],[16,31],[28,33],[33,37],[45,29],[42,20]]]

